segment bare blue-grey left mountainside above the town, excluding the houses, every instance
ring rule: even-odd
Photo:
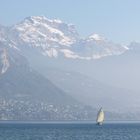
[[[28,97],[33,95],[34,97],[38,96],[37,99],[44,99],[47,97],[46,101],[50,98],[51,101],[55,102],[59,102],[59,99],[65,98],[65,94],[60,89],[32,70],[26,59],[19,55],[16,50],[8,49],[7,47],[1,47],[0,49],[1,94],[4,93],[6,96],[11,95],[11,97],[16,96],[16,94],[21,96],[26,95]]]

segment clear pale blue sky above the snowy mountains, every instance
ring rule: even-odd
[[[0,0],[0,24],[44,15],[76,25],[81,36],[101,34],[115,42],[140,42],[140,0]]]

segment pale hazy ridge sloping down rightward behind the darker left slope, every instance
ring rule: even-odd
[[[37,70],[67,94],[87,105],[96,108],[103,106],[106,110],[119,113],[128,112],[130,108],[134,111],[138,107],[140,100],[137,92],[110,86],[79,72],[55,68],[47,68],[45,71],[43,67],[38,67]]]

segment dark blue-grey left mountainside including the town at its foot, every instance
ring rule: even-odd
[[[95,110],[65,94],[34,71],[16,49],[0,45],[0,119],[77,120]]]

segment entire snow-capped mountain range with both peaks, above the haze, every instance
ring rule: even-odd
[[[3,38],[3,34],[4,37]],[[23,50],[34,48],[50,58],[99,59],[120,55],[128,48],[93,34],[82,39],[72,24],[43,16],[27,17],[18,24],[0,29],[0,40]]]

